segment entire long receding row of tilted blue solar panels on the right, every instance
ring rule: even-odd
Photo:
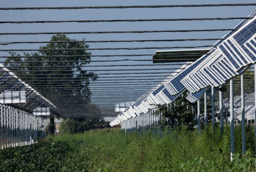
[[[223,38],[210,48],[208,54],[202,56],[181,72],[170,78],[163,85],[156,88],[148,96],[140,99],[137,104],[143,104],[140,113],[147,113],[153,107],[149,104],[169,104],[186,89],[190,92],[186,99],[195,103],[201,98],[209,86],[219,87],[227,83],[234,76],[242,74],[251,64],[256,62],[256,9],[248,17],[239,23]],[[147,102],[146,102],[147,101]],[[145,102],[145,103],[144,103]],[[136,104],[135,103],[135,104]],[[136,107],[130,111],[131,117],[139,115]],[[110,125],[119,122],[114,118]]]

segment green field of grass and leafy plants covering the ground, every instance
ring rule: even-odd
[[[234,161],[225,128],[154,137],[150,132],[97,129],[47,137],[38,144],[0,151],[1,171],[255,171],[254,129],[246,127],[246,155],[241,157],[241,128],[235,127]],[[251,151],[252,150],[252,151]]]

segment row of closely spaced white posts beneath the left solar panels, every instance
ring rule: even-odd
[[[46,136],[46,119],[10,104],[0,104],[0,149],[37,142],[39,130]]]

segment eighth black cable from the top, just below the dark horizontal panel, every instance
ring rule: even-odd
[[[184,65],[186,63],[175,63],[175,64],[124,64],[124,65],[71,65],[71,66],[7,66],[4,68],[59,68],[59,67],[66,67],[66,68],[75,68],[75,67],[115,67],[115,66],[168,66],[168,65]],[[180,69],[180,68],[175,68]],[[184,68],[181,68],[184,69]]]

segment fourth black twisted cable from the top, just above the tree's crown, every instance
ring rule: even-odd
[[[23,42],[0,42],[0,45],[10,44],[38,44],[38,43],[108,43],[108,42],[174,42],[174,41],[216,41],[226,38],[198,38],[198,39],[144,39],[144,40],[106,40],[106,41],[23,41]]]

